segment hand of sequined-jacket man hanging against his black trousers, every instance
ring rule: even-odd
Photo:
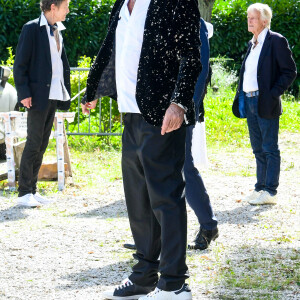
[[[171,104],[164,116],[161,134],[169,133],[180,128],[184,118],[184,109],[176,104]]]

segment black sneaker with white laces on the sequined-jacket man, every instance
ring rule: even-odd
[[[139,299],[146,296],[154,290],[154,287],[143,287],[132,283],[129,278],[122,281],[121,285],[117,286],[112,291],[103,292],[104,299]]]

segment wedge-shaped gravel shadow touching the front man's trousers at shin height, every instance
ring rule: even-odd
[[[117,200],[116,202],[110,203],[105,206],[87,211],[85,213],[78,213],[74,215],[77,218],[124,218],[127,217],[126,204],[123,199]]]

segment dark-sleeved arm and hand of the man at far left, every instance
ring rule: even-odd
[[[23,100],[30,99],[29,101],[25,101],[25,104],[31,106],[31,91],[29,87],[29,64],[32,55],[32,33],[30,32],[30,28],[28,25],[24,25],[17,50],[16,57],[14,63],[14,80],[18,93],[18,100],[22,102]],[[23,102],[22,102],[23,103]],[[24,104],[24,103],[23,103]],[[27,106],[26,106],[27,107]]]

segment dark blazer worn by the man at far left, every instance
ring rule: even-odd
[[[70,66],[64,47],[61,59],[64,67],[65,87],[71,95]],[[49,99],[52,64],[47,29],[45,26],[40,26],[40,18],[23,26],[13,71],[18,101],[32,97],[31,109],[44,110]],[[69,109],[70,101],[58,101],[57,108]]]

